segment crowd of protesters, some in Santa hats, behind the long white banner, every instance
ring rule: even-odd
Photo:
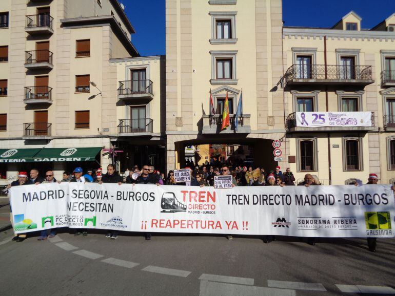
[[[40,184],[40,183],[53,183],[53,182],[95,182],[95,183],[118,183],[121,185],[123,183],[127,184],[156,184],[160,185],[190,185],[190,186],[213,186],[214,177],[219,175],[231,175],[232,176],[232,186],[294,186],[295,177],[293,176],[290,168],[286,168],[285,173],[281,171],[281,167],[277,166],[274,170],[266,171],[263,167],[252,167],[252,166],[229,166],[225,163],[216,164],[206,164],[202,166],[194,166],[192,162],[188,163],[191,173],[190,183],[176,183],[174,180],[174,171],[169,171],[167,176],[160,171],[156,171],[153,165],[143,165],[140,168],[135,165],[132,170],[127,168],[125,170],[124,176],[120,176],[115,171],[115,166],[109,164],[107,166],[107,173],[102,174],[102,168],[97,170],[87,170],[86,174],[83,175],[83,169],[81,167],[76,167],[72,174],[70,172],[63,173],[62,180],[56,180],[54,178],[53,171],[48,171],[45,174],[45,178],[39,176],[39,171],[32,169],[30,171],[29,177],[27,172],[19,172],[18,180],[13,181],[9,184],[6,189],[13,186],[28,185],[28,184]],[[377,184],[378,176],[376,174],[369,174],[368,182],[366,184]],[[312,186],[312,185],[322,185],[319,178],[315,175],[306,174],[304,180],[297,185],[301,186]],[[357,180],[356,186],[362,185],[362,181]],[[393,189],[393,187],[392,187]],[[11,210],[12,212],[12,210]],[[11,223],[12,223],[12,213],[11,213]],[[49,235],[48,235],[49,232]],[[87,229],[76,229],[74,235],[87,236]],[[56,228],[42,230],[38,240],[45,240],[47,238],[53,238],[56,235]],[[116,239],[118,237],[118,231],[110,230],[106,235],[107,238]],[[151,239],[151,234],[146,232],[145,237],[147,240]],[[228,239],[232,239],[231,235],[227,235]],[[22,242],[26,239],[26,234],[18,234],[12,239],[13,241]],[[263,241],[269,243],[274,240],[274,236],[264,236]],[[309,238],[308,243],[311,245],[315,244],[315,238]],[[376,251],[376,238],[368,238],[368,247],[370,251]]]

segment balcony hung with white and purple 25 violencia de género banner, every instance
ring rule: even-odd
[[[293,112],[286,120],[293,132],[373,131],[374,112]]]

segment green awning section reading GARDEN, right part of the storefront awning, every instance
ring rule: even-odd
[[[102,147],[44,148],[34,156],[34,162],[44,161],[94,161]]]

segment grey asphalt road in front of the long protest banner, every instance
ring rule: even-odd
[[[2,295],[338,295],[395,293],[395,240],[104,232],[12,242],[0,232]],[[337,286],[338,285],[338,286]],[[341,286],[347,285],[347,286]]]

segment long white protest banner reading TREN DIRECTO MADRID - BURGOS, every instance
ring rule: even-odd
[[[54,227],[298,237],[393,237],[390,185],[53,183],[11,188],[17,233]]]

